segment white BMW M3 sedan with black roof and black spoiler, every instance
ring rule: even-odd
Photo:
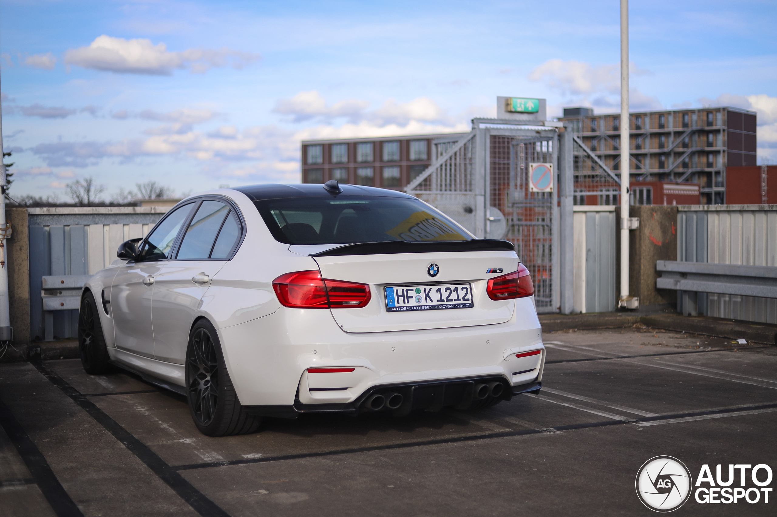
[[[205,435],[262,417],[486,408],[542,386],[531,276],[392,190],[260,185],[191,196],[85,284],[87,373],[187,397]]]

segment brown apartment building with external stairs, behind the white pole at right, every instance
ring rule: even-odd
[[[611,171],[619,171],[620,115],[594,115],[593,109],[580,107],[563,113],[559,120],[572,123],[584,144]],[[728,202],[727,184],[745,180],[737,177],[737,167],[756,165],[757,119],[747,109],[635,112],[629,120],[632,182],[698,183],[702,204],[723,204]],[[752,188],[760,192],[758,184]],[[653,204],[661,201],[663,197]]]

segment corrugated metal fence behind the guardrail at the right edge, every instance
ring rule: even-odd
[[[678,260],[777,266],[777,205],[680,206]],[[678,312],[777,323],[777,300],[678,291]]]

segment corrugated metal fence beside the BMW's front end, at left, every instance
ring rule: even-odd
[[[30,208],[30,326],[35,340],[75,338],[78,311],[44,311],[42,278],[93,275],[119,245],[145,237],[169,207]]]

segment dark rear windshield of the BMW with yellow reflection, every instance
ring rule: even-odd
[[[409,198],[316,196],[254,204],[276,240],[292,245],[470,239],[448,217]]]

